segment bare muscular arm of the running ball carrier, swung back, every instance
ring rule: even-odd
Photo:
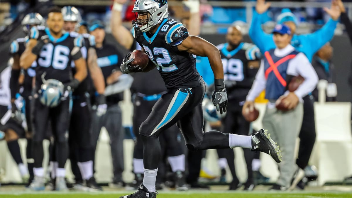
[[[224,68],[219,49],[205,39],[189,35],[177,46],[180,51],[187,51],[196,56],[207,56],[214,72],[215,79],[224,79]]]

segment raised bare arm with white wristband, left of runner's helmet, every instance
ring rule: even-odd
[[[125,26],[122,25],[122,4],[124,4],[126,0],[114,0],[114,5],[111,10],[111,32],[115,37],[117,42],[119,42],[126,49],[131,49],[134,38],[129,30]]]

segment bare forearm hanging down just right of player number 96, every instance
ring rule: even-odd
[[[94,83],[94,87],[99,94],[104,94],[105,91],[105,81],[104,76],[101,71],[101,68],[98,66],[98,62],[96,62],[98,56],[96,55],[96,51],[94,48],[88,49],[88,69],[89,72],[92,74],[91,78]]]

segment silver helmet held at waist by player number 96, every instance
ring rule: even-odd
[[[48,79],[43,82],[39,92],[40,102],[48,107],[56,107],[60,104],[64,93],[63,83],[55,79]]]

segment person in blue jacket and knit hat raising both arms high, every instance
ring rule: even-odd
[[[249,29],[249,36],[253,43],[257,45],[262,54],[265,51],[275,48],[275,43],[272,40],[272,34],[265,33],[261,27],[262,18],[265,17],[265,12],[270,7],[270,2],[265,0],[257,0],[256,11],[254,11],[251,27]],[[277,17],[278,24],[285,24],[290,27],[293,38],[291,45],[296,48],[297,51],[303,52],[310,62],[314,54],[334,36],[334,30],[338,24],[341,11],[338,8],[337,2],[332,1],[331,8],[324,8],[324,10],[330,15],[331,19],[318,31],[296,35],[297,19],[295,15],[288,9],[282,9],[282,13]]]

